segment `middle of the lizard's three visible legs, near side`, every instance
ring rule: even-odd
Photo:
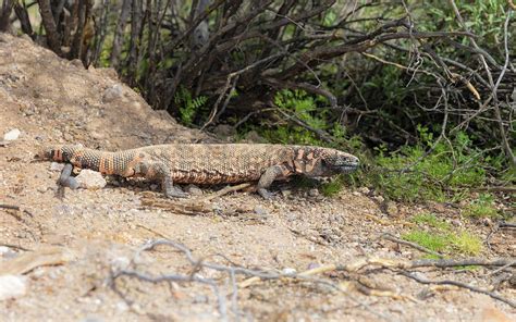
[[[171,171],[162,162],[142,161],[136,164],[134,170],[135,175],[144,176],[150,181],[159,181],[161,189],[167,198],[185,198],[186,194],[181,188],[174,186]]]

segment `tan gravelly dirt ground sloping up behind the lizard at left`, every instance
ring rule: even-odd
[[[212,287],[200,283],[152,284],[123,277],[114,289],[110,276],[121,268],[148,274],[192,272],[185,257],[173,248],[136,253],[147,240],[163,236],[185,245],[195,258],[283,272],[347,263],[365,256],[416,259],[420,252],[378,237],[400,235],[410,215],[430,206],[397,206],[397,211],[386,215],[379,207],[380,198],[368,196],[365,189],[345,190],[331,199],[284,190],[270,201],[248,193],[226,195],[211,201],[216,211],[185,215],[142,207],[142,196],[156,188],[152,185],[116,182],[100,190],[65,189],[59,198],[59,172],[50,162],[33,162],[42,144],[81,143],[115,150],[210,139],[152,111],[111,70],[85,71],[78,62],[59,59],[30,40],[0,35],[0,135],[12,128],[22,134],[0,145],[0,203],[26,211],[0,209],[0,272],[17,257],[50,246],[66,256],[62,264],[25,273],[25,294],[0,300],[0,321],[213,321],[224,315],[267,321],[516,320],[515,309],[487,295],[454,287],[435,290],[395,270],[363,276],[331,272],[320,277],[334,283],[361,278],[402,295],[397,299],[356,289],[336,292],[317,283],[266,281],[239,287],[233,301],[230,275],[209,269],[198,276],[217,282],[225,311]],[[457,209],[430,210],[483,237],[490,232],[460,221]],[[484,257],[515,255],[514,235],[504,234],[493,236],[492,250]],[[487,273],[483,269],[423,269],[420,274],[486,288],[493,282]],[[509,286],[496,292],[516,298]]]

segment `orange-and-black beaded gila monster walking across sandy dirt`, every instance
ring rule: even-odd
[[[71,187],[76,186],[70,177],[72,166],[75,166],[108,175],[157,181],[167,197],[185,197],[173,183],[258,182],[258,193],[269,198],[267,188],[275,179],[294,174],[331,176],[352,172],[359,164],[355,156],[335,149],[267,144],[170,144],[118,152],[64,145],[46,148],[38,157],[66,162],[69,165],[63,170],[60,183]]]

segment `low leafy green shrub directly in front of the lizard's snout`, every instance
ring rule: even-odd
[[[437,143],[427,127],[419,126],[420,141],[388,152],[378,148],[374,168],[366,181],[389,198],[425,201],[460,198],[464,188],[478,187],[487,177],[483,152],[469,137],[458,133],[450,143]],[[426,154],[426,151],[433,150]]]

